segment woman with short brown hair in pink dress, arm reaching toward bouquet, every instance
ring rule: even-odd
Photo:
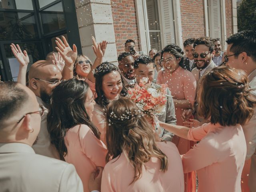
[[[203,77],[198,95],[198,113],[210,123],[192,129],[160,124],[178,136],[200,140],[182,156],[184,172],[198,173],[198,192],[241,192],[246,156],[241,125],[250,120],[256,104],[247,76],[234,68],[214,68]]]

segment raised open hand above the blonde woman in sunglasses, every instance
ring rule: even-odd
[[[72,64],[74,64],[77,58],[77,48],[76,48],[76,45],[73,44],[73,50],[72,50],[64,36],[62,36],[62,40],[56,37],[55,42],[58,46],[56,47],[56,49],[58,50],[58,52],[60,52],[60,55],[65,61],[65,64],[68,65],[68,67],[70,67]]]

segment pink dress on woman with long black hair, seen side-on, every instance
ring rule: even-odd
[[[69,129],[65,136],[68,153],[65,161],[75,166],[80,176],[84,192],[88,190],[90,173],[96,166],[104,167],[107,154],[106,146],[93,134],[87,125],[77,125]]]

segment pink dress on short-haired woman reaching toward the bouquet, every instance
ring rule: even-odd
[[[200,138],[204,132],[208,133]],[[198,192],[241,192],[246,156],[242,127],[208,123],[191,129],[188,138],[201,140],[182,156],[184,173],[196,170],[198,174]]]

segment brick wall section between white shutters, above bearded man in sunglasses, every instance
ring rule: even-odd
[[[183,42],[187,38],[204,36],[203,0],[180,0]]]

